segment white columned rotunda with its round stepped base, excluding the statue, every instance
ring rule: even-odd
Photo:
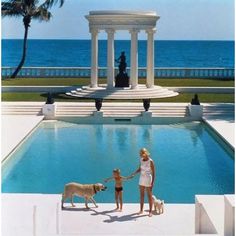
[[[144,99],[172,97],[178,93],[154,85],[154,34],[160,18],[154,11],[90,11],[85,16],[91,33],[91,79],[90,85],[67,93],[75,97],[108,99]],[[130,86],[114,87],[114,39],[115,33],[126,30],[130,33]],[[98,84],[98,37],[107,33],[107,84]],[[147,34],[146,85],[138,84],[138,34]]]

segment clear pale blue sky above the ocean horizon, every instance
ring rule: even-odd
[[[65,0],[62,8],[51,9],[50,22],[32,21],[29,38],[90,39],[84,18],[92,10],[152,10],[161,17],[156,39],[160,40],[233,40],[234,0]],[[2,19],[2,38],[22,38],[20,18]],[[118,31],[116,39],[129,39]],[[139,39],[145,39],[145,33]],[[99,34],[106,39],[106,34]]]

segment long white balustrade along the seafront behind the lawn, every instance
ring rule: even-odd
[[[13,67],[2,67],[2,78],[9,78],[14,70]],[[118,68],[115,68],[114,73],[115,75],[118,73]],[[130,75],[130,67],[127,68],[127,73]],[[18,74],[19,78],[87,78],[90,76],[90,67],[23,67]],[[99,67],[97,76],[107,77],[107,68]],[[146,76],[146,68],[139,67],[138,77]],[[234,68],[154,68],[154,77],[233,79]]]

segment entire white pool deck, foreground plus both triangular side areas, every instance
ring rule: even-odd
[[[43,116],[2,116],[2,160],[43,120]],[[234,117],[204,117],[233,148]],[[99,193],[102,194],[102,193]],[[163,215],[138,216],[139,204],[99,204],[86,210],[80,199],[76,208],[61,210],[60,195],[2,194],[2,235],[194,235],[195,205],[165,204]],[[95,197],[96,199],[96,197]],[[69,206],[69,205],[68,205]],[[148,206],[145,205],[145,210]]]

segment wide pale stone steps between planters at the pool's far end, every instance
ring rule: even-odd
[[[2,102],[2,115],[42,115],[43,102]],[[94,102],[56,102],[56,117],[89,117],[96,111]],[[104,117],[137,117],[144,111],[142,102],[103,102]],[[149,111],[152,117],[187,117],[187,103],[152,103]],[[203,116],[234,117],[234,104],[204,104]]]

